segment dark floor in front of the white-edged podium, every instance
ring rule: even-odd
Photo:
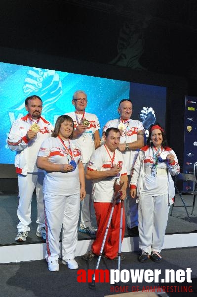
[[[120,269],[142,271],[150,269],[151,271],[160,270],[159,280],[146,282],[143,278],[141,282],[129,279],[126,283],[120,283],[121,289],[126,288],[127,292],[137,290],[148,290],[154,286],[165,286],[165,290],[170,292],[169,297],[195,297],[197,296],[197,248],[176,248],[162,250],[162,261],[153,262],[151,259],[147,263],[138,262],[138,252],[123,252],[125,260],[121,261]],[[90,262],[83,261],[80,256],[76,257],[79,269],[95,269],[97,259]],[[66,265],[60,263],[60,271],[50,272],[47,268],[46,260],[26,261],[0,264],[0,296],[2,297],[104,297],[117,294],[115,285],[110,283],[96,283],[95,290],[90,290],[87,282],[79,283],[77,281],[77,273],[79,270],[71,270]],[[99,269],[117,269],[118,263],[109,259],[101,259]],[[192,269],[192,283],[185,281],[184,283],[163,283],[161,279],[165,278],[165,270],[180,271]],[[168,286],[168,287],[167,287]],[[193,292],[178,293],[181,289],[192,287]],[[169,290],[169,288],[171,290]],[[116,287],[118,290],[118,287]],[[150,296],[151,293],[143,293],[144,297]],[[126,291],[120,291],[126,292]],[[151,292],[151,291],[150,291]],[[153,292],[153,291],[152,291]],[[157,292],[157,291],[156,291]],[[133,293],[133,294],[137,294]],[[116,295],[117,296],[117,295]],[[122,296],[122,295],[121,295]],[[126,294],[123,296],[127,296]],[[133,295],[132,295],[133,296]],[[135,296],[135,295],[134,295]],[[163,296],[163,295],[159,295]]]

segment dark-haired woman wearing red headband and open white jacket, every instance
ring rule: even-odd
[[[140,149],[130,182],[138,202],[140,262],[161,260],[169,207],[175,195],[171,175],[180,172],[175,152],[167,146],[164,129],[150,127],[147,146]]]

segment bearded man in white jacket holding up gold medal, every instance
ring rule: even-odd
[[[8,146],[16,151],[15,167],[18,173],[19,204],[17,215],[19,224],[15,241],[24,242],[30,231],[31,202],[36,188],[38,207],[38,228],[36,235],[45,239],[44,205],[42,185],[44,171],[36,166],[37,155],[42,142],[50,137],[53,126],[41,117],[42,100],[30,96],[25,100],[28,114],[13,122],[8,135]]]

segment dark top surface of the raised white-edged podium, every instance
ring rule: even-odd
[[[192,205],[193,196],[183,196],[186,205]],[[15,236],[17,234],[16,226],[18,224],[17,217],[17,194],[0,194],[0,246],[15,245]],[[183,205],[181,199],[176,195],[176,205]],[[192,208],[188,207],[189,215]],[[93,212],[94,213],[94,212]],[[170,212],[169,212],[170,213]],[[176,233],[193,233],[197,232],[197,205],[194,209],[194,214],[190,215],[191,223],[188,222],[187,214],[184,207],[174,207],[172,216],[168,216],[168,224],[166,234]],[[44,241],[36,236],[37,229],[37,205],[36,196],[33,195],[32,199],[32,223],[30,225],[31,231],[28,234],[25,244],[43,243]],[[93,222],[96,226],[95,215]],[[128,237],[127,230],[125,230],[125,237]],[[94,239],[94,236],[89,236],[85,233],[78,232],[78,240]],[[21,243],[19,243],[21,245]]]

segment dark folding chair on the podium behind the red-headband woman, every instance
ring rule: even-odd
[[[183,182],[193,182],[194,183],[193,190],[192,191],[179,191],[178,188],[177,188],[177,181],[181,181],[182,183]],[[175,176],[175,193],[177,193],[180,196],[180,198],[181,198],[181,200],[183,202],[183,205],[174,205],[175,204],[175,197],[174,197],[174,204],[172,205],[170,215],[172,215],[172,211],[173,211],[174,207],[185,207],[187,217],[188,217],[188,221],[191,222],[189,214],[188,214],[187,207],[192,207],[191,214],[193,214],[196,195],[197,195],[196,187],[197,187],[197,178],[196,178],[196,176],[194,174],[179,173],[178,175]],[[184,199],[182,197],[182,194],[193,195],[194,196],[193,204],[192,205],[186,205],[185,201],[184,201]]]

